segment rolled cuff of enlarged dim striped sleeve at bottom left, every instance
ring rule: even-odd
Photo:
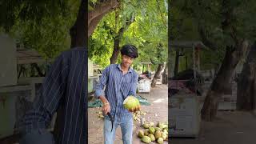
[[[32,130],[22,136],[19,144],[54,144],[54,136],[47,130]]]

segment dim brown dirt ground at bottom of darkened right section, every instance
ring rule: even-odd
[[[254,144],[256,115],[242,111],[218,111],[214,122],[201,122],[198,138],[171,138],[172,144]]]

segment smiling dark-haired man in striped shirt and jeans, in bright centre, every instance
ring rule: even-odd
[[[121,50],[121,64],[111,64],[103,70],[97,88],[95,97],[103,102],[103,114],[110,113],[114,119],[113,130],[112,123],[108,115],[104,118],[104,143],[113,144],[115,130],[121,126],[122,141],[124,144],[132,143],[133,133],[133,114],[139,110],[128,111],[123,106],[123,101],[128,95],[135,95],[138,82],[138,74],[130,67],[134,58],[138,58],[138,51],[135,46],[125,45]],[[104,87],[105,91],[104,91]]]

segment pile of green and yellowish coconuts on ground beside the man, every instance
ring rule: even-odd
[[[154,126],[154,122],[145,122],[142,127],[144,130],[138,130],[138,138],[141,138],[142,142],[163,143],[168,141],[168,124],[158,122]]]

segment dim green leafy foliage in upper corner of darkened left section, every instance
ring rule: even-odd
[[[70,47],[69,30],[79,4],[78,0],[2,0],[0,26],[25,48],[38,50],[45,58],[54,58]]]

